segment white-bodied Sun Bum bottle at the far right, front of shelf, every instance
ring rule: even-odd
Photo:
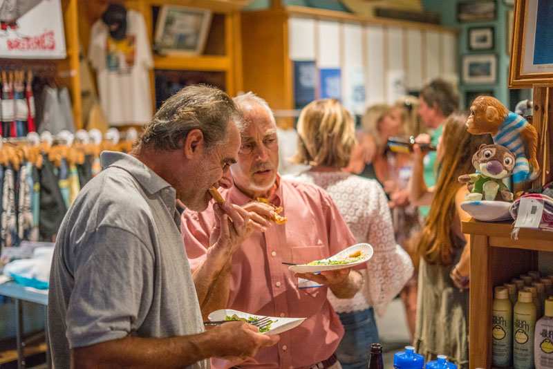
[[[545,300],[545,315],[536,323],[534,362],[536,369],[553,368],[553,297]]]

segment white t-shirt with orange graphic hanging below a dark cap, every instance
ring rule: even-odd
[[[97,20],[88,48],[102,110],[111,126],[145,124],[152,117],[149,69],[153,59],[144,17],[128,10],[126,21],[126,38],[117,41],[102,19]]]

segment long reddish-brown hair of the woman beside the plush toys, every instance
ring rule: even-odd
[[[438,167],[438,182],[426,224],[422,229],[418,252],[431,264],[453,263],[453,220],[455,198],[462,174],[474,173],[472,155],[481,144],[491,144],[489,135],[471,135],[465,126],[467,115],[454,113],[447,118],[442,134],[443,157]]]

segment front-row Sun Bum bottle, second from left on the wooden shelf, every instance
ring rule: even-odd
[[[536,305],[532,292],[518,292],[514,305],[513,324],[513,368],[534,368],[534,328],[536,327]]]

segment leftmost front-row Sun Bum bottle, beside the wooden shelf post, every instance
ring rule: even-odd
[[[508,368],[512,365],[513,308],[506,287],[496,287],[495,292],[491,313],[491,360],[496,368]]]

